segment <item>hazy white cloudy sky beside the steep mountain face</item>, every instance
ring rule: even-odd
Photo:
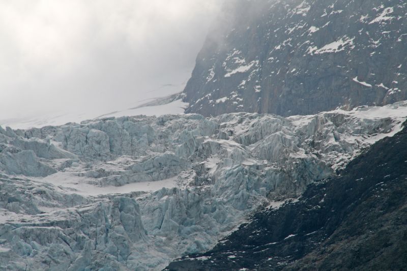
[[[220,2],[1,1],[0,119],[182,91]]]

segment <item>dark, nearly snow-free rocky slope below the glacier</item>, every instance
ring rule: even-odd
[[[257,213],[213,250],[166,270],[403,270],[406,199],[404,128],[299,201]]]

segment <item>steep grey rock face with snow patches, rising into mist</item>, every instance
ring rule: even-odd
[[[187,112],[313,114],[407,99],[407,3],[239,0],[197,56]]]

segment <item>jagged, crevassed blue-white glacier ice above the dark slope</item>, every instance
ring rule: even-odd
[[[0,268],[159,270],[401,129],[407,102],[0,130]]]

